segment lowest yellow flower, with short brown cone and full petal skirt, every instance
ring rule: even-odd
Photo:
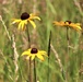
[[[44,60],[44,56],[47,57],[47,52],[44,51],[44,50],[38,50],[37,48],[29,48],[27,49],[26,51],[24,51],[22,54],[22,56],[25,56],[26,55],[26,59],[29,59],[31,60],[34,60],[35,57],[39,58],[40,60]]]

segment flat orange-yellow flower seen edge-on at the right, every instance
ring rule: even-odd
[[[81,27],[81,24],[80,23],[72,23],[71,21],[66,21],[66,22],[57,22],[55,21],[54,22],[55,25],[59,25],[59,26],[70,26],[72,27],[73,30],[76,30],[76,31],[82,31],[82,27]]]

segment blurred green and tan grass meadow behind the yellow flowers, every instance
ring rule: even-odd
[[[27,80],[27,61],[21,57],[21,54],[27,49],[27,36],[25,32],[17,30],[17,25],[11,25],[11,19],[20,17],[23,12],[36,12],[42,21],[37,22],[36,44],[39,49],[48,49],[49,32],[51,30],[51,44],[63,66],[67,82],[83,82],[83,35],[74,30],[70,30],[69,56],[67,52],[67,30],[64,27],[54,26],[54,21],[72,21],[83,24],[83,0],[0,0],[0,15],[10,33],[15,35],[16,49],[20,55],[19,80]],[[33,27],[29,24],[29,34]],[[83,25],[82,25],[83,27]],[[31,40],[33,42],[33,36]],[[14,82],[12,43],[9,42],[7,32],[0,21],[0,82]],[[49,82],[64,82],[62,72],[52,50],[49,58]],[[37,60],[36,72],[39,82],[47,82],[47,58],[44,62]]]

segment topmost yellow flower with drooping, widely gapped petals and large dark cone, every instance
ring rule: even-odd
[[[24,13],[22,13],[21,19],[13,19],[12,24],[19,23],[19,30],[25,30],[26,28],[25,25],[29,22],[33,25],[33,27],[35,28],[36,25],[33,21],[35,19],[40,21],[40,19],[38,16],[36,16],[36,14],[33,14],[33,13],[28,14],[27,12],[24,12]]]

